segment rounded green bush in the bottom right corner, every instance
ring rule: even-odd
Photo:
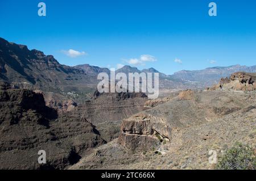
[[[255,170],[256,158],[254,149],[249,145],[237,144],[218,158],[217,169],[223,170]]]

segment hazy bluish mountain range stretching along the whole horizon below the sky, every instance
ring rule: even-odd
[[[39,50],[29,50],[26,45],[10,43],[0,38],[0,81],[13,86],[34,90],[67,92],[93,92],[96,89],[97,75],[110,73],[108,68],[89,64],[61,65],[51,55]],[[214,67],[204,70],[181,70],[172,75],[160,73],[154,68],[139,70],[129,65],[116,70],[117,73],[159,73],[161,89],[205,89],[216,84],[221,77],[229,77],[237,71],[256,72],[256,66],[234,65]]]

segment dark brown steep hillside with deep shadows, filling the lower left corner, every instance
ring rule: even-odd
[[[105,143],[86,119],[58,115],[42,94],[9,88],[1,83],[0,169],[65,169]],[[38,164],[39,150],[46,165]]]

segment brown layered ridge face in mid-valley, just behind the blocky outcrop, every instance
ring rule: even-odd
[[[71,113],[85,117],[88,121],[97,124],[109,121],[121,121],[147,110],[144,103],[147,101],[144,93],[100,93],[96,91],[91,100],[77,106]]]

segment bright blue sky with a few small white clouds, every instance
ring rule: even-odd
[[[38,16],[39,2],[46,17]],[[216,17],[208,15],[210,2]],[[255,0],[2,0],[0,19],[0,37],[65,65],[131,63],[166,74],[256,65]]]

